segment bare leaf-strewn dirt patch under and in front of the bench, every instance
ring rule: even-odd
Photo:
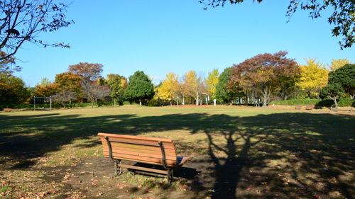
[[[193,165],[190,162],[185,168],[176,169],[171,186],[165,184],[165,178],[133,176],[129,171],[114,177],[114,164],[101,157],[85,159],[76,166],[50,168],[42,178],[48,183],[62,183],[63,195],[59,198],[209,198],[212,190],[208,187],[213,187],[213,182],[202,181],[208,174],[190,169]]]

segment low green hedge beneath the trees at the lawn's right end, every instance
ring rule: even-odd
[[[355,107],[355,99],[349,98],[342,98],[338,99],[338,106],[353,106]],[[295,106],[297,104],[300,105],[315,105],[315,106],[324,106],[324,107],[331,107],[335,106],[335,103],[332,99],[292,99],[292,100],[285,100],[285,101],[272,101],[270,104],[275,105],[290,105]]]

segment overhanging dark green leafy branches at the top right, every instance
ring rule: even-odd
[[[260,3],[263,0],[256,0]],[[200,0],[200,3],[207,6],[224,6],[226,3],[240,4],[244,0]],[[206,9],[206,8],[205,8]],[[340,48],[351,47],[355,41],[355,3],[354,0],[290,0],[286,16],[293,16],[297,10],[309,11],[311,18],[318,18],[322,11],[331,10],[333,13],[328,22],[334,25],[333,36],[341,36]],[[326,12],[327,13],[327,12]]]

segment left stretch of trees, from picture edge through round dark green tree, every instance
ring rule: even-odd
[[[4,53],[4,52],[3,52]],[[4,56],[7,56],[4,53]],[[119,74],[102,77],[102,64],[79,63],[70,65],[67,72],[56,74],[55,81],[42,79],[34,88],[26,88],[22,79],[13,75],[21,70],[14,67],[14,59],[0,61],[0,108],[32,102],[33,97],[52,97],[56,103],[114,101],[124,98],[139,101],[153,97],[153,84],[143,72],[136,72],[129,81]]]

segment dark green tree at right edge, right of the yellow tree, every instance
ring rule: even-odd
[[[329,72],[329,84],[340,84],[350,98],[355,96],[355,64],[346,64]]]

